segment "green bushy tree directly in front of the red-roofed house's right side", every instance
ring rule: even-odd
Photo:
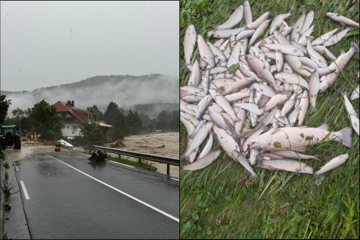
[[[101,145],[106,142],[103,127],[95,121],[80,123],[80,134],[84,136],[87,146]]]

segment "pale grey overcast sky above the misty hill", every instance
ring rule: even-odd
[[[179,77],[178,1],[1,1],[1,90],[96,75]]]

